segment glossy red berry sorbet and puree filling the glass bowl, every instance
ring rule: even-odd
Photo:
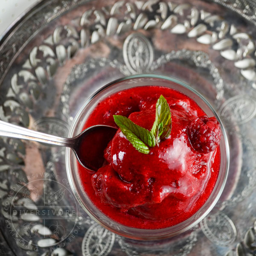
[[[102,168],[91,173],[78,163],[91,201],[129,227],[159,229],[186,220],[207,201],[218,178],[219,124],[176,90],[144,86],[115,93],[99,102],[84,129],[117,127],[113,115],[122,115],[150,131],[161,94],[172,113],[172,130],[149,154],[137,151],[119,129],[105,149]]]

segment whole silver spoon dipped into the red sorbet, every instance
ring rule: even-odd
[[[79,163],[91,171],[97,171],[104,163],[104,149],[116,131],[112,126],[94,125],[76,137],[62,138],[0,121],[0,136],[72,148]]]

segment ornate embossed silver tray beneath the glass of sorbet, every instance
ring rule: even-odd
[[[135,241],[83,211],[65,149],[0,139],[0,255],[245,256],[256,253],[256,4],[246,0],[42,1],[0,42],[0,119],[67,136],[114,79],[172,76],[221,116],[230,172],[215,209],[172,239]]]

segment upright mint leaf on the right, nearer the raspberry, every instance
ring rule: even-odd
[[[163,123],[163,131],[159,135],[159,125]],[[156,119],[154,121],[151,133],[154,134],[155,138],[160,137],[164,139],[171,134],[172,129],[172,113],[169,105],[163,95],[159,97],[156,104]],[[157,138],[158,141],[158,138]]]

